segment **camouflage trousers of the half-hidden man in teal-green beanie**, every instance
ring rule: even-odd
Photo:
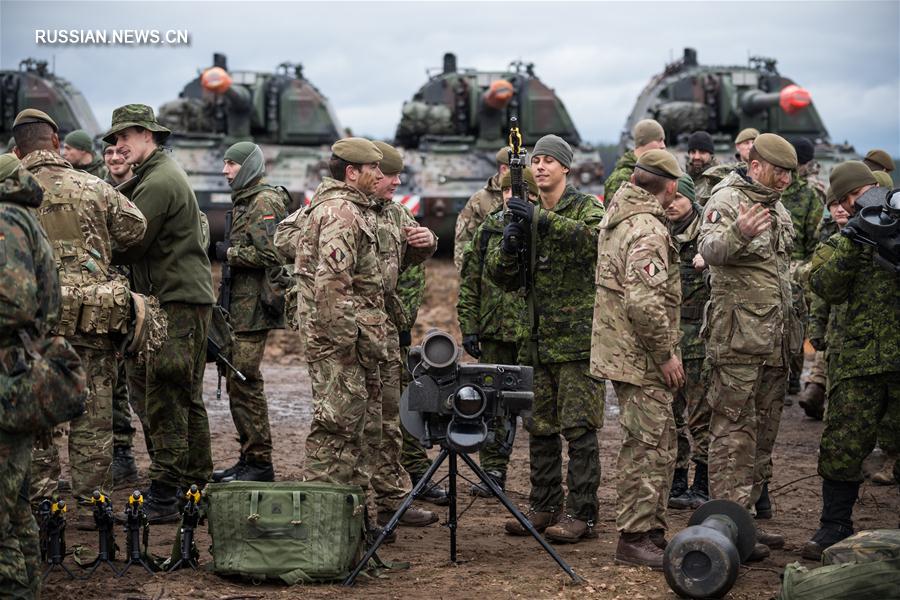
[[[678,433],[676,469],[687,469],[692,459],[697,464],[706,464],[709,452],[710,410],[706,399],[709,372],[703,369],[703,363],[702,358],[684,360],[684,387],[675,392],[675,400],[672,402],[675,430]]]

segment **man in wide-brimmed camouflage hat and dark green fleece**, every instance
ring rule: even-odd
[[[115,260],[131,265],[136,291],[156,296],[168,318],[165,344],[148,358],[146,373],[134,372],[128,381],[136,404],[145,399],[153,451],[144,508],[151,523],[177,521],[178,488],[202,485],[212,473],[203,404],[212,271],[197,199],[184,171],[160,148],[170,133],[149,106],[126,104],[113,111],[103,137],[132,165],[134,183],[126,193],[149,223],[143,241]]]

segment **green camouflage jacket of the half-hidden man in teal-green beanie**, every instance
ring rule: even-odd
[[[702,209],[688,217],[690,224],[679,233],[673,232],[673,240],[678,248],[679,270],[681,273],[681,358],[697,360],[706,357],[706,344],[700,337],[703,325],[703,310],[709,300],[709,269],[698,271],[694,268],[697,255],[697,237],[700,235]],[[670,225],[672,227],[674,225]]]

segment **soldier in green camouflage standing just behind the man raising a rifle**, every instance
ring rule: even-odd
[[[531,169],[525,169],[524,179],[528,185],[529,201],[537,202],[540,192]],[[511,185],[511,176],[506,172],[500,180],[503,205],[488,215],[475,230],[472,241],[466,245],[459,276],[459,301],[456,304],[466,352],[481,362],[505,365],[517,362],[525,304],[519,295],[505,292],[491,281],[484,271],[484,263],[488,249],[499,246],[503,238],[501,209],[512,197]],[[502,441],[506,435],[505,423],[494,423],[494,441],[478,451],[481,468],[501,490],[506,486],[506,467],[512,451],[512,448],[503,447]],[[472,493],[485,498],[494,495],[481,482],[473,485]]]

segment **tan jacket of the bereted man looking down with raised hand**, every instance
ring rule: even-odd
[[[777,191],[735,171],[713,188],[700,226],[700,254],[709,265],[711,310],[707,358],[713,365],[784,366],[800,350],[800,323],[791,291],[791,215]],[[747,239],[739,207],[763,204],[771,227]]]

